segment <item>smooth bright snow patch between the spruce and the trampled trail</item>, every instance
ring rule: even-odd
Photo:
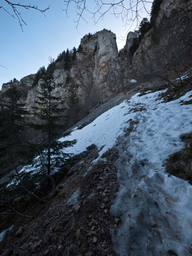
[[[119,106],[109,109],[100,115],[100,117],[83,127],[83,129],[72,131],[71,135],[61,138],[60,141],[77,139],[77,143],[72,148],[65,149],[65,151],[67,153],[79,154],[91,144],[95,144],[98,148],[104,145],[99,153],[101,156],[114,146],[119,137],[123,136],[124,127],[127,125],[129,109],[130,106],[123,102]]]

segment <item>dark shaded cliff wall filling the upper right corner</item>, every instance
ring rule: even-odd
[[[187,3],[188,2],[188,3]],[[192,1],[163,1],[155,25],[142,39],[132,57],[132,73],[137,75],[174,73],[191,66]]]

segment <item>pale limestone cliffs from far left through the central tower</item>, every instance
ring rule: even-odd
[[[78,84],[78,95],[83,104],[93,101],[93,104],[102,101],[112,93],[108,83],[108,73],[110,66],[118,56],[118,48],[116,36],[114,33],[103,30],[93,35],[84,36],[80,42],[82,50],[77,53],[76,60],[72,63],[70,71],[65,71],[61,63],[56,63],[54,71],[55,82],[60,84],[54,93],[61,96],[64,100],[67,97],[68,84],[66,78],[69,76]],[[37,97],[38,85],[32,88],[34,75],[29,75],[19,82],[18,86],[23,86],[27,90],[25,92],[26,107],[32,112]],[[2,92],[7,90],[10,83],[4,84]]]

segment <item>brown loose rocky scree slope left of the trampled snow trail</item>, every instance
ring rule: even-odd
[[[91,165],[97,156],[95,146],[77,156],[56,197],[34,212],[37,217],[31,222],[22,219],[14,225],[1,255],[115,255],[109,231],[115,232],[121,221],[110,216],[109,209],[119,188],[114,165],[118,150],[108,150],[103,160]],[[78,197],[70,202],[75,191]]]

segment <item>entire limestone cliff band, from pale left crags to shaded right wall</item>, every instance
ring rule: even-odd
[[[190,3],[190,5],[189,5]],[[127,34],[126,45],[119,53],[116,36],[108,30],[102,30],[82,38],[81,50],[72,62],[70,71],[63,68],[63,62],[57,62],[54,75],[55,95],[66,100],[68,94],[67,78],[78,85],[78,95],[84,106],[92,107],[103,101],[114,91],[125,86],[127,79],[137,79],[139,75],[164,75],[165,70],[184,68],[192,65],[192,24],[190,19],[192,1],[162,1],[155,25],[143,37],[137,51],[132,56],[129,52],[133,38],[139,36],[138,31]],[[189,54],[190,53],[190,54]],[[13,83],[21,88],[23,99],[28,110],[32,110],[36,101],[38,85],[32,88],[34,75]],[[3,84],[2,92],[10,83]],[[88,104],[89,103],[89,104]]]

